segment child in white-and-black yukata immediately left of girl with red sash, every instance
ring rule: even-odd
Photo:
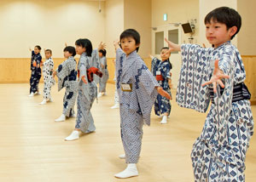
[[[64,60],[64,62],[58,66],[58,69],[53,72],[53,77],[55,77],[55,75],[58,77],[58,91],[66,87],[63,98],[63,111],[61,117],[55,119],[55,122],[64,122],[66,117],[75,117],[73,106],[78,94],[77,62],[73,58],[75,55],[76,50],[74,47],[67,46],[64,48],[64,57],[67,60]]]

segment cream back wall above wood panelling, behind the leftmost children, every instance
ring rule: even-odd
[[[80,37],[96,48],[106,41],[105,2],[102,13],[98,7],[97,1],[84,0],[1,0],[0,57],[28,58],[28,48],[38,44],[62,58],[64,43],[74,45]]]

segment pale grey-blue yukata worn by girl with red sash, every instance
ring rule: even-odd
[[[90,67],[99,66],[99,54],[98,50],[93,50],[91,56],[87,56],[86,53],[81,54],[78,71],[79,71],[79,93],[78,93],[78,114],[76,118],[75,128],[80,129],[84,133],[90,133],[96,130],[94,120],[91,115],[90,109],[97,97],[96,82],[90,82],[87,75],[87,70]],[[99,69],[99,67],[97,67]],[[82,77],[85,76],[87,83],[82,81]]]

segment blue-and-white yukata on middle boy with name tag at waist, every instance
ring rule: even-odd
[[[121,138],[126,163],[137,163],[141,152],[143,123],[150,125],[150,114],[157,96],[155,80],[147,65],[132,52],[127,57],[121,48],[116,51],[116,86],[120,104]],[[131,91],[122,91],[130,85]]]

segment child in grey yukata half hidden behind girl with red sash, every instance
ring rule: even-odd
[[[108,68],[107,68],[107,59],[106,59],[107,51],[106,49],[99,50],[99,57],[100,57],[100,66],[102,71],[102,78],[99,82],[99,95],[98,97],[102,97],[102,95],[106,94],[106,86],[108,82]]]

